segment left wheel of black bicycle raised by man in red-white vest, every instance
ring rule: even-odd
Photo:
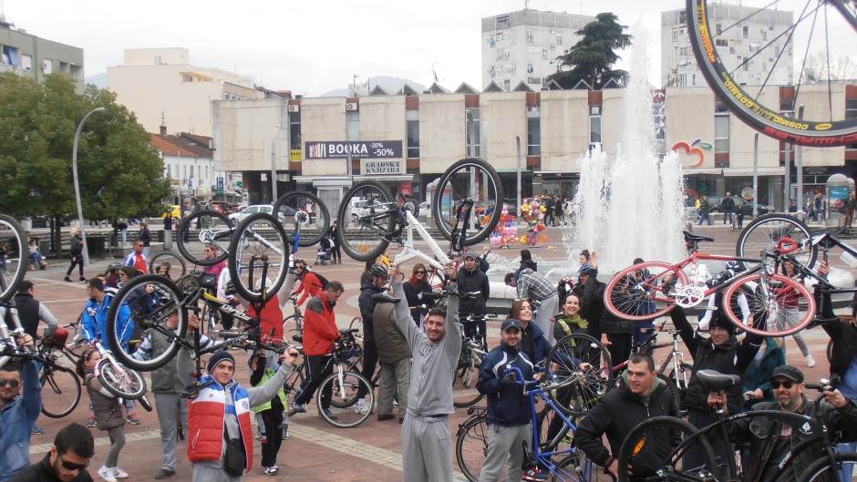
[[[179,351],[179,340],[188,330],[187,314],[181,308],[183,295],[174,282],[157,274],[144,274],[126,282],[110,303],[108,309],[108,340],[113,356],[120,364],[148,372],[160,368]],[[122,308],[122,309],[120,309]],[[126,322],[123,317],[128,316]],[[162,336],[167,340],[163,353],[149,360],[133,358],[123,347],[120,330],[138,327],[140,337]]]

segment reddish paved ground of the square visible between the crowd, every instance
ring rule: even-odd
[[[704,244],[702,251],[723,254],[734,252],[735,241],[738,237],[737,232],[731,232],[720,225],[696,228],[696,231],[703,235],[712,236],[716,240],[713,243]],[[561,229],[552,228],[545,232],[548,234],[549,241],[532,249],[533,253],[546,260],[562,259],[565,256],[565,249],[561,245]],[[513,260],[518,255],[517,249],[513,246],[512,250],[500,251],[500,253]],[[396,250],[391,250],[391,253],[395,252]],[[308,262],[315,260],[315,249],[313,248],[304,248],[300,254]],[[837,265],[838,257],[833,256],[831,259],[835,259],[834,265]],[[111,261],[108,259],[94,260],[92,266],[88,267],[86,275],[90,277],[103,271]],[[26,279],[36,283],[36,299],[46,303],[48,308],[57,315],[60,323],[73,322],[87,301],[83,283],[63,282],[66,267],[67,261],[51,260],[51,265],[46,271],[28,272],[26,276]],[[357,309],[358,280],[363,269],[363,262],[355,262],[350,259],[345,259],[342,264],[315,267],[315,271],[323,273],[328,280],[341,281],[346,287],[343,298],[336,305],[336,320],[340,327],[346,327],[355,316],[359,315]],[[405,269],[406,272],[409,272],[410,266],[406,266]],[[498,343],[499,327],[498,321],[489,323],[489,344],[491,346]],[[800,352],[791,340],[787,342],[788,358],[791,364],[805,370],[807,380],[812,382],[829,374],[829,365],[825,357],[825,346],[828,338],[820,328],[804,332],[804,337],[818,364],[814,368],[808,369],[802,356],[800,356]],[[656,352],[656,362],[660,364],[667,353],[663,350]],[[235,354],[238,358],[236,377],[241,382],[248,383],[249,371],[245,368],[247,366],[245,357],[238,352]],[[50,449],[53,437],[60,427],[68,422],[86,423],[87,405],[88,397],[84,393],[81,403],[71,415],[59,420],[44,416],[39,418],[38,425],[45,429],[45,434],[32,437],[30,456],[33,462],[37,462]],[[142,422],[139,426],[125,426],[127,445],[119,456],[119,467],[129,473],[129,480],[152,480],[160,468],[158,419],[154,413],[147,413],[139,407],[137,415]],[[467,416],[464,409],[457,409],[456,414],[450,417],[449,424],[453,434],[453,444],[456,429]],[[296,415],[290,420],[290,437],[284,441],[279,453],[279,474],[275,477],[262,474],[259,467],[261,449],[259,442],[255,441],[253,471],[245,479],[301,480],[302,482],[403,480],[399,430],[400,425],[398,425],[397,420],[378,422],[374,414],[362,426],[350,429],[336,428],[328,425],[317,416],[315,406],[312,406],[308,413]],[[107,434],[97,429],[93,429],[93,435],[96,437],[96,455],[90,464],[90,473],[93,478],[99,480],[95,472],[104,460],[109,441]],[[191,475],[191,467],[185,455],[183,443],[180,443],[178,458],[178,475],[172,479],[186,480]],[[404,478],[407,480],[407,477]],[[464,480],[458,471],[456,472],[456,480]]]

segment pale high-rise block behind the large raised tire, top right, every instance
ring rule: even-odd
[[[759,11],[755,6],[729,5],[726,2],[708,5],[710,23],[715,27],[711,34],[718,47],[718,56],[729,70],[735,69],[732,75],[739,84],[761,85],[769,72],[769,86],[790,86],[794,83],[793,46],[792,43],[786,43],[788,35],[780,36],[792,26],[792,12],[772,9]],[[780,56],[781,49],[785,49],[785,52]],[[777,56],[780,56],[779,61]],[[706,79],[697,68],[697,59],[687,36],[685,9],[662,12],[661,86],[705,85]]]

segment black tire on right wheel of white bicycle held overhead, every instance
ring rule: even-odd
[[[490,196],[490,188],[494,189],[495,200],[493,205],[490,205],[490,200],[485,200],[486,206],[482,206],[482,208],[487,211],[491,209],[490,218],[488,222],[482,221],[481,229],[476,231],[475,234],[467,236],[464,239],[464,245],[470,246],[476,244],[480,241],[485,240],[490,236],[490,233],[494,231],[494,228],[497,226],[497,223],[500,221],[500,217],[502,214],[502,204],[503,204],[503,185],[500,179],[500,174],[497,173],[497,170],[494,169],[488,162],[479,159],[479,158],[465,158],[460,159],[453,163],[449,168],[447,168],[443,174],[440,175],[440,179],[438,181],[438,190],[435,191],[434,196],[431,199],[431,216],[435,220],[435,225],[438,226],[440,233],[446,238],[448,241],[452,240],[452,226],[448,224],[444,220],[443,210],[441,208],[441,201],[443,200],[442,196],[444,192],[449,192],[451,189],[447,189],[446,186],[449,184],[451,186],[450,180],[460,169],[468,169],[475,168],[479,169],[479,171],[485,175],[486,179],[490,180],[491,185],[486,190],[487,196]],[[472,179],[472,178],[471,178]],[[472,191],[472,189],[468,189]],[[464,190],[462,190],[463,192]],[[451,196],[451,195],[450,195]],[[455,200],[452,200],[453,202]],[[479,203],[477,203],[478,205]],[[454,213],[451,212],[452,207],[449,207],[449,218],[454,217]],[[471,213],[471,216],[476,213]]]

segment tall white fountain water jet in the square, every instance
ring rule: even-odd
[[[622,140],[611,159],[600,147],[579,160],[578,211],[570,261],[586,248],[598,252],[601,272],[630,266],[635,258],[676,262],[686,254],[682,227],[682,175],[676,155],[658,159],[652,87],[646,80],[645,29],[635,27],[628,85],[622,99]]]

